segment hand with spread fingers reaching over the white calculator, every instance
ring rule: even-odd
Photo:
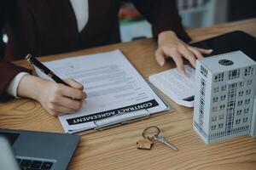
[[[159,48],[155,52],[155,59],[159,65],[164,65],[166,58],[171,57],[181,74],[185,74],[183,58],[188,59],[195,67],[195,60],[201,59],[202,54],[211,54],[212,49],[194,48],[180,40],[173,31],[163,31],[158,37]]]

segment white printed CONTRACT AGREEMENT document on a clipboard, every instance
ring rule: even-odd
[[[106,127],[169,107],[119,50],[44,62],[58,77],[84,85],[86,103],[76,113],[59,116],[66,133]],[[36,70],[39,77],[49,79]]]

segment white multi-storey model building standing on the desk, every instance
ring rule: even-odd
[[[193,127],[205,143],[255,135],[253,59],[241,51],[199,59],[195,80]]]

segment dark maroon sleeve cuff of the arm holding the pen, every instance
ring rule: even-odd
[[[0,101],[5,101],[11,98],[11,96],[5,92],[6,88],[9,86],[9,82],[11,82],[12,79],[22,71],[31,72],[26,68],[14,65],[4,59],[0,59]]]

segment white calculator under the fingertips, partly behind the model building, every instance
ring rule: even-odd
[[[177,105],[193,107],[194,101],[186,101],[195,94],[195,69],[185,65],[186,75],[181,76],[177,68],[162,71],[149,77],[156,88],[175,101]]]

